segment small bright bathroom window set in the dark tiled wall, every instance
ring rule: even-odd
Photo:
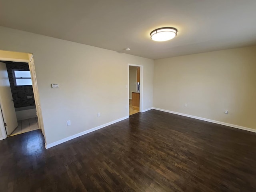
[[[29,70],[13,70],[13,78],[16,86],[32,85]]]

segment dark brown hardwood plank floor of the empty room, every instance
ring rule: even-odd
[[[48,150],[40,130],[0,141],[1,192],[255,192],[256,134],[138,113]]]

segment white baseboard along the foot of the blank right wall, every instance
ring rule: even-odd
[[[211,122],[211,123],[216,123],[216,124],[225,125],[225,126],[238,128],[238,129],[242,129],[242,130],[246,130],[246,131],[256,133],[256,129],[252,129],[252,128],[248,128],[248,127],[233,125],[233,124],[230,124],[230,123],[215,121],[215,120],[211,120],[211,119],[206,119],[206,118],[197,117],[197,116],[193,116],[193,115],[188,115],[188,114],[184,114],[184,113],[178,113],[178,112],[169,111],[169,110],[165,110],[165,109],[160,109],[160,108],[156,108],[156,107],[153,107],[153,109],[158,110],[158,111],[164,111],[164,112],[168,112],[168,113],[172,113],[172,114],[176,114],[176,115],[182,115],[182,116],[186,116],[186,117],[190,117],[190,118],[194,118],[194,119],[199,119],[199,120],[203,120],[203,121],[207,121],[207,122]]]

